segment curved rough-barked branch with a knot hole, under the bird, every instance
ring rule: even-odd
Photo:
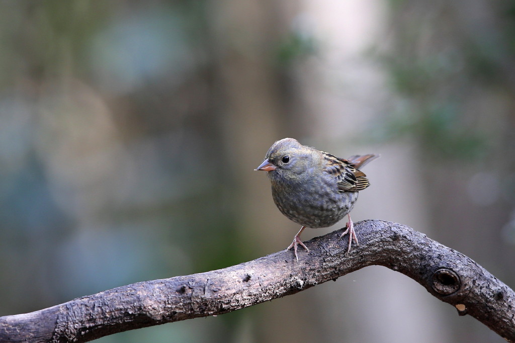
[[[0,317],[0,341],[85,342],[117,332],[219,315],[295,294],[381,265],[515,341],[515,293],[467,256],[425,234],[381,220],[355,224],[361,245],[346,256],[339,231],[306,242],[297,263],[280,251],[236,266],[138,282],[28,314]]]

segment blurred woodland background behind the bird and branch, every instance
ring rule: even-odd
[[[284,249],[299,227],[253,169],[287,136],[340,157],[380,153],[354,221],[411,226],[515,286],[514,1],[1,9],[0,315]],[[368,267],[98,340],[143,341],[504,340]]]

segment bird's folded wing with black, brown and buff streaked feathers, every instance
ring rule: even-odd
[[[352,162],[339,159],[330,153],[325,153],[324,159],[327,161],[325,171],[336,178],[339,191],[357,192],[370,185],[365,173],[356,169]]]

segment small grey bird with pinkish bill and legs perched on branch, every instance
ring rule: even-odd
[[[279,211],[302,227],[286,250],[294,248],[297,262],[297,246],[302,230],[326,228],[349,217],[347,230],[349,247],[358,244],[350,212],[357,200],[358,191],[370,185],[363,171],[357,168],[378,158],[379,155],[354,155],[340,159],[330,153],[300,144],[293,138],[285,138],[268,149],[265,160],[254,170],[267,172],[272,184],[272,198]]]

